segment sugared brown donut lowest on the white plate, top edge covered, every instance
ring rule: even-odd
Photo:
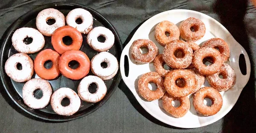
[[[170,94],[165,93],[162,100],[164,110],[176,118],[184,116],[190,109],[190,101],[188,97],[172,97]],[[180,101],[180,105],[178,107],[174,107],[172,105],[172,101],[174,100]]]

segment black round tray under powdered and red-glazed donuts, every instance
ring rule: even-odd
[[[28,13],[24,14],[20,18],[18,18],[9,28],[6,30],[6,32],[3,35],[3,40],[0,42],[2,44],[0,55],[1,55],[1,70],[0,70],[0,78],[3,83],[4,89],[6,90],[9,97],[12,99],[12,101],[23,111],[27,112],[28,114],[44,119],[49,121],[69,121],[77,118],[81,118],[82,116],[86,116],[99,107],[101,107],[113,94],[114,90],[117,88],[119,81],[121,79],[120,70],[116,74],[115,77],[113,77],[111,80],[105,80],[105,84],[108,88],[107,94],[105,97],[98,103],[87,103],[84,101],[81,101],[81,107],[79,108],[79,111],[76,112],[76,114],[73,114],[71,116],[61,116],[56,114],[53,110],[51,105],[47,105],[46,108],[43,109],[32,109],[29,108],[27,105],[24,104],[22,99],[22,87],[24,83],[17,83],[13,81],[11,78],[9,78],[6,75],[6,72],[4,70],[5,62],[6,60],[13,54],[18,53],[14,47],[12,46],[12,34],[15,30],[22,27],[31,27],[36,28],[35,21],[36,16],[40,11],[46,8],[55,8],[61,11],[65,16],[69,13],[69,11],[75,9],[75,8],[84,8],[85,10],[89,11],[93,15],[93,28],[97,26],[104,26],[108,29],[110,29],[114,36],[115,36],[115,43],[113,47],[108,51],[109,53],[113,54],[115,57],[117,57],[117,60],[120,60],[120,56],[122,53],[122,44],[120,42],[119,36],[116,33],[116,30],[113,28],[110,22],[106,20],[102,15],[100,15],[98,12],[94,11],[91,8],[81,6],[78,4],[73,3],[50,3],[43,6],[40,6],[39,8],[36,8],[35,10],[29,11]],[[80,48],[81,51],[87,54],[87,56],[92,59],[94,55],[96,55],[99,52],[96,52],[95,50],[91,49],[90,46],[86,42],[86,35],[82,34],[83,36],[83,44]],[[42,50],[50,48],[52,50],[52,44],[51,44],[51,37],[44,36],[45,38],[45,46]],[[36,55],[38,53],[29,54],[29,56],[34,60]],[[93,75],[92,72],[88,75]],[[38,76],[34,74],[32,78],[37,78]],[[61,87],[69,87],[77,92],[77,87],[79,85],[81,80],[70,80],[62,75],[60,75],[58,78],[54,80],[49,80],[49,83],[52,86],[53,91],[61,88]],[[42,95],[40,92],[36,92],[36,96]],[[64,101],[66,102],[66,101]]]

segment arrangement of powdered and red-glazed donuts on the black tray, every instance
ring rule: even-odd
[[[79,18],[82,20],[81,24],[76,23]],[[55,23],[48,25],[49,19],[54,19]],[[37,29],[19,28],[13,33],[12,45],[19,53],[10,56],[5,63],[5,72],[12,80],[26,82],[22,90],[24,103],[30,108],[40,109],[45,108],[50,102],[53,111],[57,114],[69,116],[79,110],[81,100],[89,103],[102,100],[107,93],[104,80],[113,78],[119,68],[116,57],[107,52],[115,41],[111,30],[105,27],[93,28],[92,14],[82,8],[73,9],[66,18],[54,8],[44,9],[36,17],[36,27]],[[83,34],[87,34],[88,45],[99,52],[91,61],[86,53],[79,50],[82,46]],[[45,44],[44,36],[51,36],[53,50],[42,50]],[[62,39],[65,36],[70,36],[73,40],[72,44],[64,44]],[[97,39],[99,36],[105,37],[105,42],[99,42]],[[32,43],[23,42],[27,37],[33,39]],[[39,53],[33,62],[27,54],[37,52]],[[46,61],[52,61],[51,68],[44,67]],[[70,68],[70,61],[77,61],[79,66],[76,69]],[[107,64],[106,68],[102,68],[102,62]],[[18,64],[21,64],[22,69],[17,67]],[[32,79],[34,70],[39,78]],[[87,76],[90,70],[94,75]],[[65,87],[52,92],[47,80],[54,80],[60,74],[71,80],[82,79],[77,88],[78,94]],[[88,90],[91,83],[97,85],[95,93],[90,93]],[[43,97],[40,99],[36,99],[33,94],[37,89],[43,92]],[[70,100],[70,104],[62,106],[61,101],[65,97]]]

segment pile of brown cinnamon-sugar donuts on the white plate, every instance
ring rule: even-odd
[[[137,64],[153,62],[156,72],[143,74],[138,80],[139,94],[148,101],[162,99],[163,108],[174,117],[184,116],[190,109],[189,96],[198,114],[211,116],[220,111],[223,100],[219,91],[227,91],[235,84],[236,74],[226,64],[230,50],[227,42],[212,38],[201,47],[196,44],[206,32],[204,22],[189,17],[177,27],[169,21],[162,21],[155,28],[155,39],[164,47],[159,54],[156,44],[149,39],[137,39],[130,48],[131,58]],[[148,49],[143,54],[140,48]],[[168,69],[164,67],[167,64]],[[221,78],[222,76],[222,78]],[[204,87],[205,78],[209,86]],[[148,83],[156,84],[151,90]],[[212,101],[204,104],[204,98]],[[178,100],[175,107],[172,101]]]

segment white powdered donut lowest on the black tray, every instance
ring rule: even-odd
[[[67,97],[70,100],[70,104],[62,106],[61,101]],[[56,114],[63,116],[70,116],[75,114],[81,105],[79,96],[70,88],[60,88],[52,94],[51,106]]]

